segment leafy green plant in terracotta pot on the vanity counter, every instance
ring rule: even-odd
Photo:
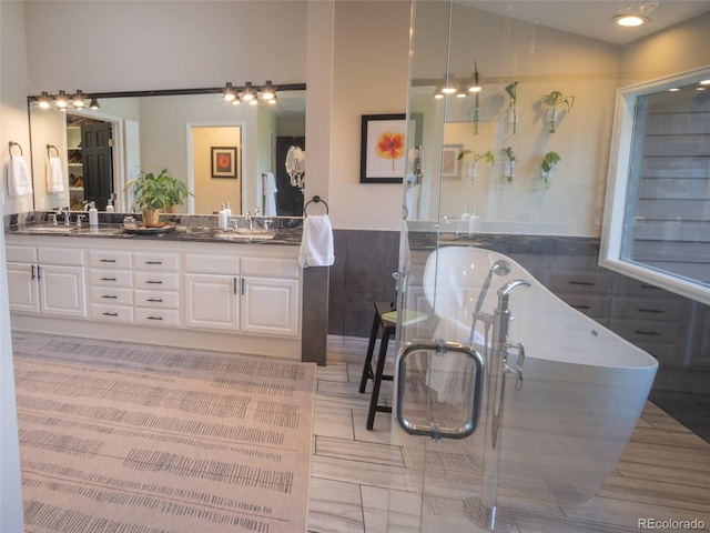
[[[170,211],[173,205],[182,205],[187,195],[192,194],[187,185],[169,175],[163,168],[158,175],[141,170],[141,175],[125,184],[125,189],[133,189],[133,204],[131,211],[143,213],[143,224],[146,228],[162,225],[160,212]]]

